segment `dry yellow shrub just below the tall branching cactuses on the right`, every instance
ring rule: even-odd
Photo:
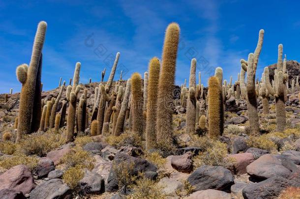
[[[246,142],[249,147],[261,148],[268,151],[275,150],[277,148],[276,144],[270,140],[268,134],[258,137],[249,136],[249,139],[247,139]]]

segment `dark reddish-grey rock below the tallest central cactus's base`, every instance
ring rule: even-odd
[[[193,154],[190,151],[183,155],[174,155],[171,159],[171,165],[177,171],[189,173],[193,171],[192,157]]]

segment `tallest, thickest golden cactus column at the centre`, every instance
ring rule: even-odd
[[[173,86],[175,81],[176,58],[180,28],[170,24],[165,33],[162,53],[162,67],[158,83],[156,137],[161,147],[173,145]]]

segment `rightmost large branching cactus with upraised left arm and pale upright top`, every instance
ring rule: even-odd
[[[276,107],[276,131],[283,132],[286,125],[286,113],[285,113],[285,105],[284,105],[284,89],[285,82],[288,80],[288,75],[286,73],[286,68],[283,67],[283,62],[286,62],[286,58],[282,62],[282,44],[278,45],[278,60],[277,60],[277,77],[275,80],[275,89],[270,84],[269,77],[269,68],[265,67],[264,70],[264,78],[265,84],[269,91],[269,94],[275,97],[275,107]]]

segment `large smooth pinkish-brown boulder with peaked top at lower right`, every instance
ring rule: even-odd
[[[256,180],[265,180],[274,175],[288,177],[291,174],[272,154],[266,154],[246,167],[247,173]]]

